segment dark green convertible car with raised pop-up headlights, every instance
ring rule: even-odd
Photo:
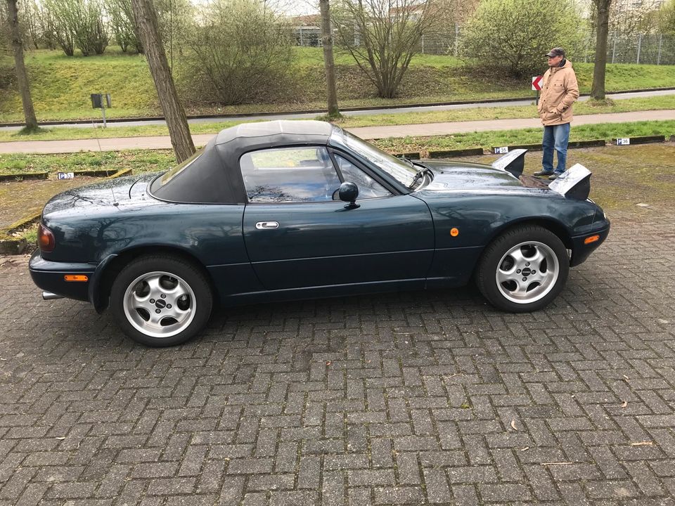
[[[150,346],[190,339],[216,305],[472,278],[496,308],[536,311],[610,223],[587,169],[547,187],[524,155],[418,162],[324,122],[242,124],[163,174],[53,197],[30,273],[45,299],[110,306]]]

